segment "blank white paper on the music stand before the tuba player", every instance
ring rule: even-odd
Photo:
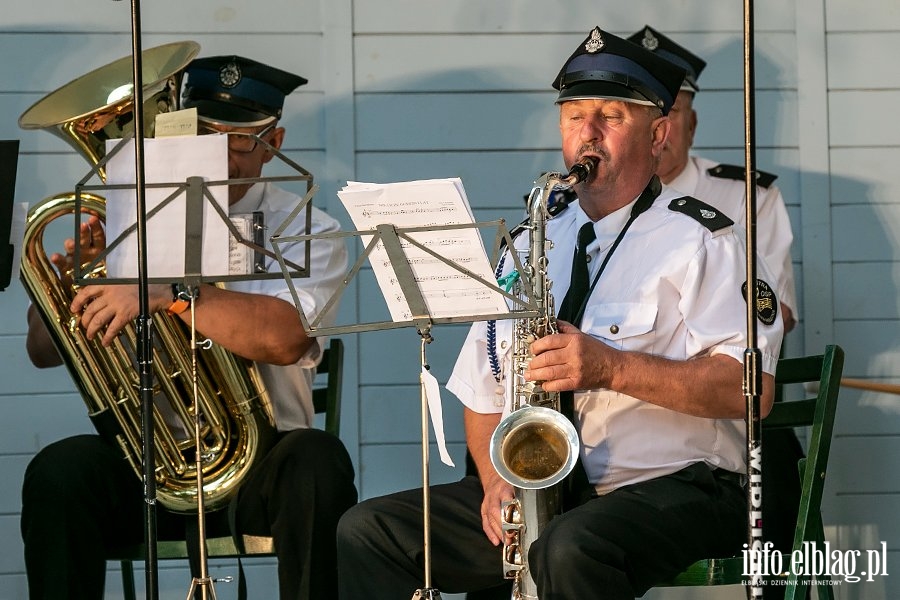
[[[120,140],[108,140],[107,152]],[[121,148],[107,163],[107,183],[133,184],[135,181],[134,140]],[[188,177],[205,181],[228,179],[228,137],[203,135],[144,140],[144,180],[146,183],[182,183]],[[146,188],[144,201],[151,211],[169,197],[175,187]],[[228,214],[228,187],[207,188],[225,214]],[[133,189],[109,190],[106,196],[106,241],[111,243],[137,220],[136,193]],[[147,275],[178,279],[185,275],[185,202],[181,193],[158,214],[147,219]],[[228,275],[228,226],[203,199],[204,277]],[[110,251],[107,274],[112,278],[137,277],[137,232],[132,232]]]

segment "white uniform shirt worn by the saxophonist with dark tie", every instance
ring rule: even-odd
[[[672,199],[682,195],[663,188],[632,224],[588,299],[581,329],[622,350],[674,360],[726,354],[741,362],[747,345],[742,238],[731,227],[711,232],[670,210]],[[592,281],[632,206],[595,223],[597,240],[588,246]],[[569,286],[577,231],[587,221],[573,203],[548,223],[547,237],[554,245],[547,258],[557,307]],[[527,237],[520,235],[515,246],[527,249]],[[764,278],[764,266],[761,273]],[[510,369],[511,335],[511,321],[497,323],[503,374]],[[759,324],[757,346],[767,373],[775,372],[781,337],[780,319],[771,326]],[[447,389],[475,412],[505,413],[511,379],[498,386],[488,361],[487,324],[475,323]],[[498,395],[504,387],[505,397]],[[577,392],[575,413],[582,462],[598,493],[701,461],[729,471],[745,469],[742,420],[693,417],[604,389]]]

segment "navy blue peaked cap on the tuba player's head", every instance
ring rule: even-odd
[[[238,127],[281,118],[284,98],[306,79],[242,56],[197,58],[185,69],[182,108],[201,120]]]

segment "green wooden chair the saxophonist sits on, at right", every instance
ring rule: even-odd
[[[814,397],[778,402],[762,422],[764,428],[810,428],[806,458],[801,459],[797,465],[801,479],[801,497],[792,550],[803,548],[804,542],[814,542],[821,548],[825,541],[821,512],[822,492],[825,487],[825,473],[831,450],[831,434],[834,429],[834,415],[843,366],[844,351],[840,346],[827,346],[824,354],[816,356],[784,358],[778,361],[776,384],[784,386],[795,383],[818,383],[817,394]],[[763,446],[763,452],[765,451]],[[765,506],[763,510],[765,511]],[[789,556],[784,562],[784,569],[790,570]],[[743,572],[742,556],[708,558],[695,562],[672,582],[658,587],[739,584],[748,579]],[[820,600],[834,598],[829,577],[781,574],[767,579],[767,585],[774,584],[785,588],[785,600],[807,598],[810,587],[816,587]]]

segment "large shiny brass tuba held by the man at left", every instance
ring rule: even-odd
[[[175,110],[181,74],[200,47],[195,42],[166,44],[144,51],[144,122],[153,131],[156,114]],[[110,63],[51,92],[19,118],[24,129],[48,129],[75,147],[102,179],[107,139],[133,133],[135,118],[131,58]],[[99,106],[99,108],[98,108]],[[98,164],[100,165],[98,167]],[[89,340],[69,311],[75,286],[64,286],[47,252],[44,233],[56,219],[80,218],[76,194],[47,198],[28,215],[22,242],[21,279],[69,369],[97,431],[119,447],[138,477],[143,476],[138,334],[129,325],[111,346]],[[105,217],[105,200],[80,193],[80,212]],[[82,268],[85,268],[83,265]],[[102,278],[103,265],[85,275]],[[273,441],[269,399],[249,361],[212,345],[198,352],[198,398],[193,399],[190,331],[180,319],[153,315],[151,359],[154,378],[153,427],[157,498],[166,508],[197,509],[197,463],[203,472],[207,510],[224,506],[236,493],[255,460]],[[194,436],[194,405],[201,423]],[[201,460],[197,460],[197,456]]]

